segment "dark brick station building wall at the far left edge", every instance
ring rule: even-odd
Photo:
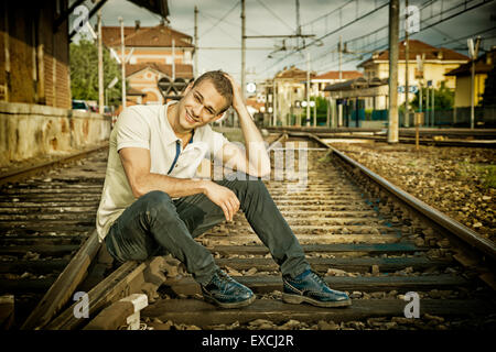
[[[68,23],[54,33],[55,1],[2,1],[0,101],[71,108]]]

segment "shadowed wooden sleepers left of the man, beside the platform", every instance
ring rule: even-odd
[[[19,180],[0,188],[0,295],[14,296],[13,328],[93,233],[107,154],[99,148],[56,163],[57,169],[45,164],[2,179]],[[33,172],[42,175],[25,179]]]

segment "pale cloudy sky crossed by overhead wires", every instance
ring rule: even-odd
[[[295,0],[246,0],[247,35],[290,35],[296,32]],[[467,2],[464,11],[461,6]],[[354,54],[343,55],[343,69],[356,69],[371,51],[387,47],[388,1],[386,0],[300,0],[302,34],[306,38],[310,68],[316,73],[338,69],[339,36]],[[400,0],[403,11],[405,0]],[[91,2],[86,2],[91,8]],[[200,72],[222,68],[235,77],[241,70],[241,20],[239,0],[169,0],[170,25],[188,35],[194,34],[194,7],[198,7]],[[479,34],[483,47],[496,45],[496,1],[488,0],[410,0],[419,10],[420,32],[410,38],[434,46],[444,46],[466,54],[466,38]],[[463,12],[464,11],[464,12]],[[461,13],[463,12],[463,13]],[[457,14],[461,13],[461,14]],[[157,25],[160,18],[127,0],[108,0],[103,7],[104,25]],[[91,19],[96,22],[96,16]],[[339,28],[345,26],[339,30]],[[400,37],[403,36],[400,23]],[[280,50],[285,44],[285,50]],[[284,66],[306,69],[306,51],[295,51],[302,40],[248,38],[247,80],[272,77]],[[224,48],[219,48],[224,47]]]

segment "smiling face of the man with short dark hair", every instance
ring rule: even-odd
[[[177,133],[187,133],[222,118],[227,100],[206,79],[194,87],[187,87],[184,98],[176,106],[173,129]]]

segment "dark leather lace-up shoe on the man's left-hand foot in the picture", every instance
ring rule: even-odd
[[[215,272],[207,285],[201,286],[205,300],[222,308],[245,307],[255,300],[251,289],[234,280],[222,270]]]

